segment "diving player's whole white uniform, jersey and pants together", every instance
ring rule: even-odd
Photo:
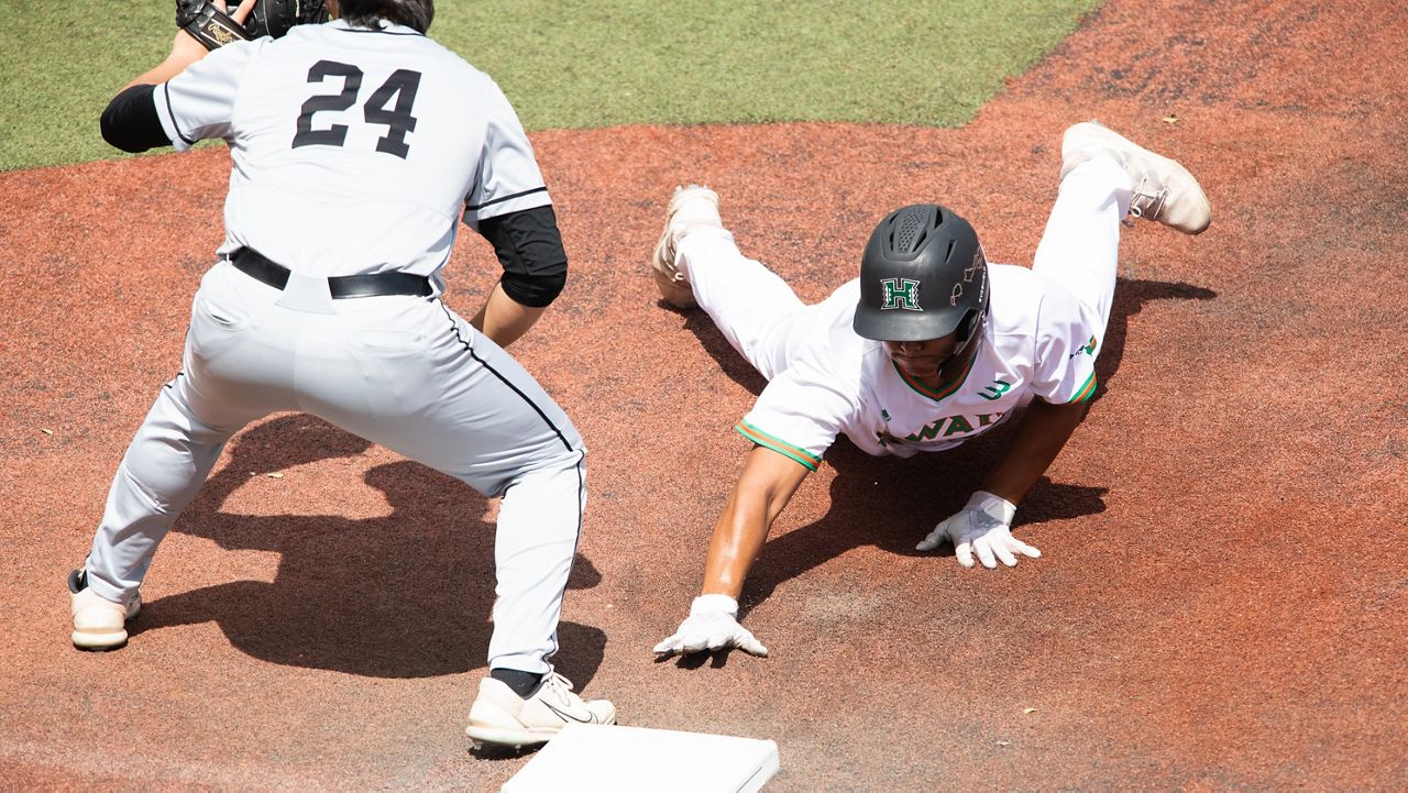
[[[1062,179],[1032,268],[988,265],[991,306],[972,363],[938,389],[905,376],[884,345],[852,328],[860,282],[805,306],[724,228],[679,241],[674,266],[724,338],[767,377],[735,430],[815,470],[845,434],[872,455],[953,448],[1041,397],[1095,393],[1118,269],[1129,176],[1093,158]]]

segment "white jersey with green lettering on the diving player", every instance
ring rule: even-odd
[[[825,327],[763,389],[736,430],[815,470],[845,434],[872,455],[914,456],[953,448],[1041,397],[1095,392],[1095,335],[1088,311],[1026,268],[990,265],[993,304],[972,363],[939,389],[903,373],[879,341],[850,328],[860,282],[838,289],[808,321]]]

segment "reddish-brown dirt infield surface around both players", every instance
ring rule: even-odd
[[[560,669],[627,724],[776,739],[776,790],[1408,787],[1405,39],[1395,4],[1117,0],[962,130],[536,135],[576,275],[515,352],[591,448]],[[655,663],[760,387],[643,276],[670,187],[717,186],[815,300],[914,200],[1029,262],[1088,117],[1183,159],[1215,211],[1198,238],[1125,237],[1107,392],[1021,508],[1045,558],[910,551],[1002,438],[842,442],[745,593],[773,655]],[[494,789],[527,758],[460,734],[494,507],[313,418],[235,438],[125,649],[69,647],[62,579],[179,366],[227,162],[0,175],[3,786]],[[467,237],[451,304],[494,268]]]

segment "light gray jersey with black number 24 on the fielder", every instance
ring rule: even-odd
[[[477,228],[551,203],[493,79],[410,28],[332,21],[235,42],[155,101],[177,149],[230,144],[220,252],[249,246],[304,276],[436,276],[462,213]]]

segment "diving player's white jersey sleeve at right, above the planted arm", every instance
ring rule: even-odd
[[[1093,311],[1066,289],[1049,286],[1036,317],[1032,392],[1052,404],[1086,401],[1095,393],[1100,334]]]

